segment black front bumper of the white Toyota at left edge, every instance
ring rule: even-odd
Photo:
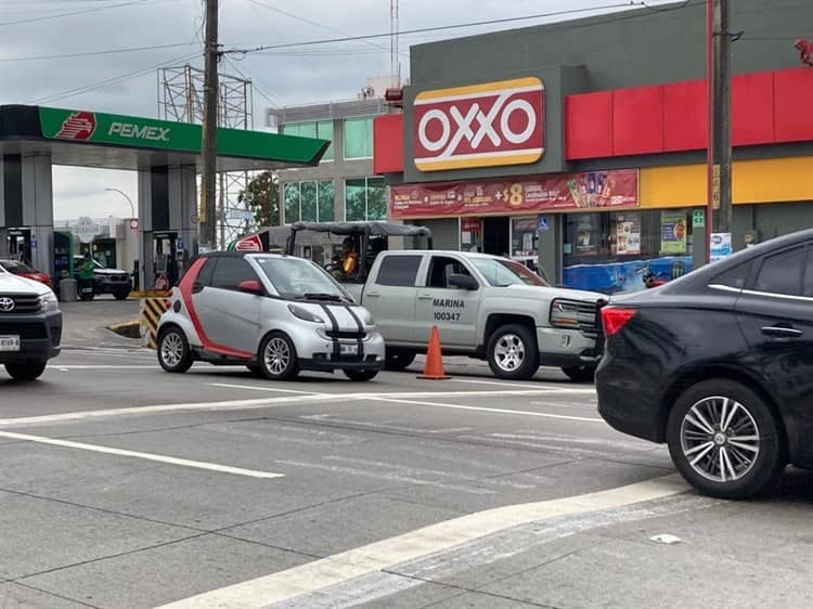
[[[20,351],[0,351],[0,364],[46,362],[60,354],[62,313],[5,314],[0,335],[20,336]]]

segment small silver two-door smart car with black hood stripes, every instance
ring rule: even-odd
[[[275,380],[341,370],[370,380],[384,367],[384,339],[370,312],[315,263],[275,254],[212,252],[172,289],[158,324],[158,363],[244,364]]]

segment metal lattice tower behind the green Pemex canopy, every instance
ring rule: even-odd
[[[251,81],[228,74],[219,75],[218,125],[231,129],[253,129]],[[158,117],[178,122],[203,121],[204,72],[189,64],[158,69]],[[218,177],[218,246],[247,234],[254,215],[237,203],[248,186],[248,171],[223,172]]]

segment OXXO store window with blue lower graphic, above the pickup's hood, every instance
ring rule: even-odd
[[[647,270],[664,280],[692,270],[689,209],[572,213],[566,217],[564,283],[605,294],[644,288]]]

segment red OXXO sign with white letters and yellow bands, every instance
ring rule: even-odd
[[[543,95],[539,78],[418,93],[415,167],[440,171],[538,161],[544,154]]]

